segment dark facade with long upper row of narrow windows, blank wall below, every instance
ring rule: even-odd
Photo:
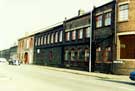
[[[62,66],[63,23],[36,33],[34,38],[34,64]]]

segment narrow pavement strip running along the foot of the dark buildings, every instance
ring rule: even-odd
[[[33,66],[39,66],[39,65],[33,65]],[[73,69],[67,69],[67,68],[57,68],[57,67],[50,67],[50,66],[42,66],[42,67],[48,70],[55,70],[55,71],[68,72],[68,73],[78,74],[78,75],[92,76],[92,77],[97,77],[97,78],[101,78],[105,80],[131,81],[129,79],[129,76],[125,76],[125,75],[86,72],[86,71],[79,71],[79,70],[73,70]]]

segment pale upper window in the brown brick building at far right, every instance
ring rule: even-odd
[[[128,4],[119,6],[119,21],[128,20]]]

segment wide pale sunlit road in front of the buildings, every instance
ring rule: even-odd
[[[135,91],[135,82],[0,63],[0,91]]]

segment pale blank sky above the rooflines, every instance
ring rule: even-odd
[[[112,0],[0,0],[0,50],[17,44],[25,33],[77,16],[78,10],[89,12]]]

